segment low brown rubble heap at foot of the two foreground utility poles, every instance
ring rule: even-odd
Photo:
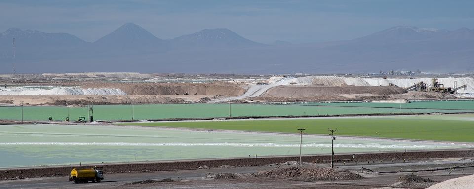
[[[294,178],[301,180],[355,180],[361,179],[359,174],[351,173],[344,169],[331,169],[326,167],[300,168],[291,167],[270,171],[261,171],[256,176],[276,178]]]

